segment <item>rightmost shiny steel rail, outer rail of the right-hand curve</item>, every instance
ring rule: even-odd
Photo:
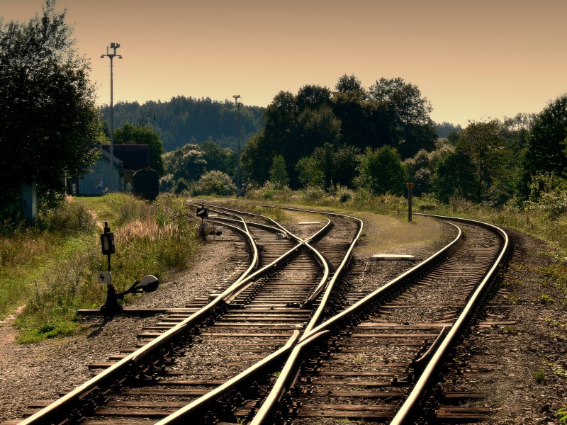
[[[429,217],[438,218],[441,220],[456,220],[461,222],[467,222],[474,225],[478,225],[481,227],[485,227],[491,229],[493,232],[499,235],[500,238],[503,239],[503,245],[500,246],[500,254],[493,263],[493,266],[490,268],[488,273],[486,273],[485,277],[483,278],[482,282],[478,285],[476,290],[474,291],[471,298],[466,303],[464,310],[461,312],[459,317],[456,319],[456,322],[453,324],[449,332],[447,332],[447,336],[444,337],[442,342],[439,344],[439,348],[435,353],[432,354],[432,358],[425,366],[423,373],[420,375],[420,378],[415,383],[410,395],[402,404],[398,413],[395,414],[391,421],[391,425],[404,425],[404,424],[413,424],[415,421],[415,413],[417,408],[419,407],[420,401],[423,399],[427,390],[431,387],[432,381],[437,377],[439,368],[441,368],[443,364],[444,358],[446,358],[447,354],[451,347],[456,344],[459,337],[465,331],[468,322],[470,321],[471,317],[473,316],[474,312],[476,311],[476,307],[481,302],[483,295],[488,290],[490,286],[490,282],[495,277],[496,273],[498,273],[500,265],[507,255],[508,249],[510,247],[510,241],[508,239],[508,235],[503,229],[500,227],[496,227],[494,225],[490,225],[485,222],[479,222],[476,220],[468,220],[462,218],[454,218],[454,217],[446,217],[440,215],[429,215],[429,214],[420,214],[420,215],[427,215]]]

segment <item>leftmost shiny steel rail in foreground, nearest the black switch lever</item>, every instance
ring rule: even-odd
[[[238,227],[233,228],[235,230],[242,231],[242,229]],[[250,234],[247,230],[247,227],[245,232],[249,235],[249,241],[251,241],[252,246],[255,247],[254,239],[252,237],[252,234]],[[301,244],[298,244],[298,246],[301,246]],[[291,254],[291,251],[297,249],[298,246],[288,251],[282,257],[285,258],[289,254]],[[254,249],[254,253],[254,256],[256,257],[257,249]],[[257,260],[255,260],[254,262],[256,261]],[[259,276],[261,273],[266,273],[266,271],[273,267],[277,261],[279,261],[279,259],[276,259],[276,261],[273,261],[268,266],[259,269],[255,273],[252,273],[252,275],[246,276],[244,278],[242,278],[241,276],[238,280],[235,281],[235,283],[232,283],[229,288],[223,291],[223,293],[218,295],[218,297],[216,297],[214,300],[209,302],[208,305],[204,306],[201,310],[198,310],[198,312],[191,314],[191,316],[184,319],[183,322],[176,324],[176,326],[172,327],[172,329],[169,329],[169,331],[159,335],[156,339],[150,341],[150,343],[146,344],[143,347],[140,347],[133,353],[130,353],[128,356],[125,356],[117,363],[103,370],[94,378],[91,378],[90,380],[84,382],[82,385],[79,385],[79,387],[75,388],[71,392],[68,392],[67,395],[60,397],[49,406],[41,409],[39,412],[36,412],[28,418],[23,419],[20,425],[57,423],[54,421],[57,421],[57,418],[62,418],[64,417],[64,415],[68,414],[69,412],[66,409],[74,409],[75,405],[79,402],[80,399],[82,399],[82,397],[89,395],[96,389],[106,389],[110,387],[113,382],[116,382],[116,380],[122,378],[123,375],[128,372],[128,370],[132,370],[137,365],[142,363],[142,361],[144,361],[146,358],[152,356],[157,352],[157,350],[159,350],[159,348],[162,348],[173,339],[178,338],[181,334],[184,334],[185,332],[191,330],[192,327],[196,327],[198,324],[201,324],[207,317],[210,316],[210,314],[214,314],[215,310],[223,309],[225,305],[230,302],[227,300],[230,300],[233,293],[240,290],[240,288],[242,288],[242,285],[247,285],[249,281]]]

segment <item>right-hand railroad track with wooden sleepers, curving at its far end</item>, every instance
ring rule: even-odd
[[[432,261],[305,334],[252,424],[313,424],[321,418],[330,424],[412,424],[423,414],[434,417],[429,423],[442,423],[431,412],[438,406],[430,397],[434,382],[507,252],[499,229],[460,226],[464,240],[458,237]],[[321,342],[310,342],[317,337]],[[479,397],[451,391],[441,396],[454,404]],[[445,409],[442,421],[487,419],[488,410],[476,408],[475,417],[467,418],[459,409]]]

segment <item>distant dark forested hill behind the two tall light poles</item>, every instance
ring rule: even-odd
[[[264,127],[262,114],[265,108],[240,106],[240,148]],[[101,108],[103,119],[110,122],[110,106]],[[155,118],[154,118],[155,117]],[[120,102],[114,105],[114,128],[125,123],[146,124],[157,132],[164,142],[164,151],[178,149],[187,143],[213,140],[221,147],[236,150],[237,107],[225,100],[177,96],[170,101]]]

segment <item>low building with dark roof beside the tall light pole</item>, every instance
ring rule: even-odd
[[[110,166],[110,145],[101,146],[101,157],[91,167],[91,173],[82,179],[67,181],[67,192],[78,196],[97,196],[109,191],[130,192],[132,178],[136,171],[146,169],[150,164],[148,145],[114,145],[113,164]],[[109,185],[112,179],[112,185]]]

